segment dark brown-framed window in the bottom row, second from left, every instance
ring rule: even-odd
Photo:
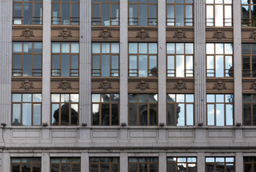
[[[50,158],[51,172],[80,172],[80,158]]]

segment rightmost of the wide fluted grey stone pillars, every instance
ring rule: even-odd
[[[205,1],[194,0],[195,125],[206,125],[206,25]]]

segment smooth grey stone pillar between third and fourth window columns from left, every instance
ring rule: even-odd
[[[120,124],[128,125],[128,1],[120,2]]]

